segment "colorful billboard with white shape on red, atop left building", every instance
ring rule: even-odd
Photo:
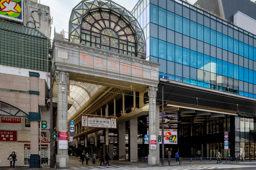
[[[0,17],[23,22],[23,0],[0,0]]]

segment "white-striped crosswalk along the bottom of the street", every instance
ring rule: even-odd
[[[225,168],[252,168],[256,167],[253,165],[228,165],[228,164],[217,164],[217,165],[194,165],[194,166],[157,166],[148,167],[147,165],[111,165],[111,166],[80,166],[80,167],[70,167],[70,169],[79,170],[204,170],[204,169],[225,169]]]

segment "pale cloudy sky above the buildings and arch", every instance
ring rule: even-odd
[[[62,29],[68,32],[68,22],[72,12],[72,9],[81,2],[81,0],[38,0],[38,3],[47,5],[50,7],[51,17],[53,17],[51,39],[53,39],[54,27],[57,33],[60,33]],[[132,11],[138,0],[112,0],[115,3],[123,6],[129,11]],[[196,0],[189,0],[191,3],[195,3]]]

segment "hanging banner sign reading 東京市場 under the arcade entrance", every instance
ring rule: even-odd
[[[106,118],[98,116],[82,116],[81,120],[82,127],[91,128],[115,128],[116,129],[116,118]]]

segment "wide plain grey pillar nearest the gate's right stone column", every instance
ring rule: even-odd
[[[138,161],[138,118],[129,120],[129,160]]]

